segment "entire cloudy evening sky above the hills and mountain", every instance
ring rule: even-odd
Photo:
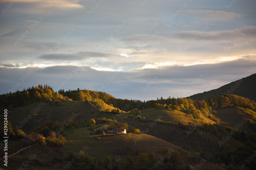
[[[0,0],[0,94],[187,97],[256,73],[254,0]]]

